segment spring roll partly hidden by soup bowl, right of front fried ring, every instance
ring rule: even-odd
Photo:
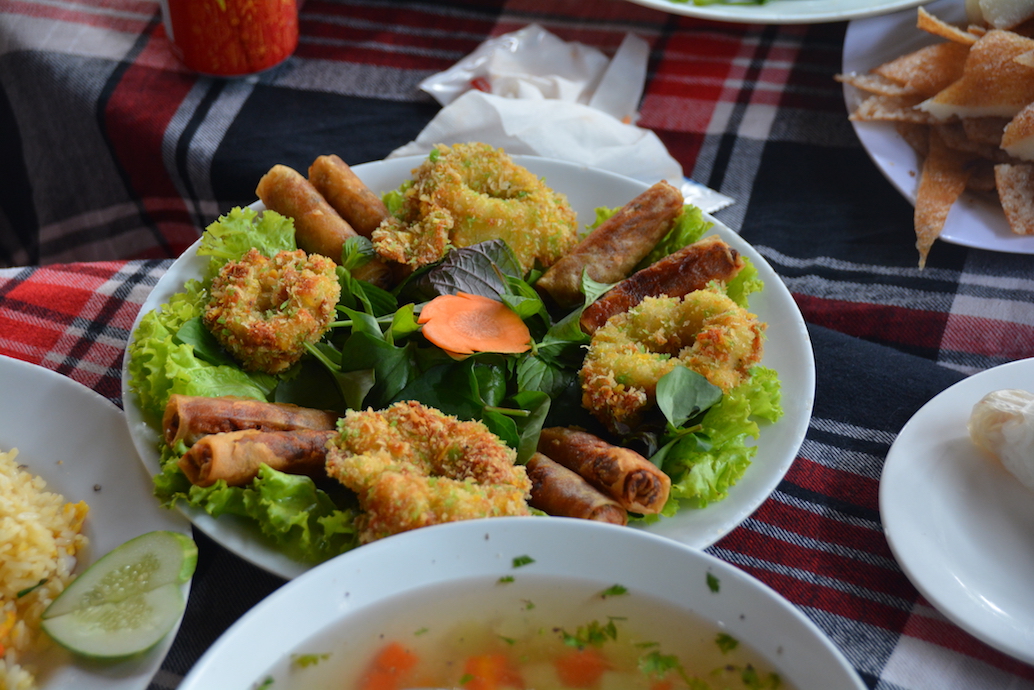
[[[533,508],[547,515],[628,524],[628,511],[576,472],[542,453],[534,454],[525,467],[531,480]]]

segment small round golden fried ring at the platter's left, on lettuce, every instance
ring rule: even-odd
[[[212,279],[203,319],[243,368],[276,373],[327,332],[340,293],[330,259],[301,249],[267,259],[252,248]]]

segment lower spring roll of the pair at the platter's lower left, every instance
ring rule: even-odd
[[[292,475],[324,476],[327,441],[337,431],[256,431],[244,429],[207,436],[180,458],[179,467],[197,486],[220,479],[244,486],[258,476],[263,464]]]

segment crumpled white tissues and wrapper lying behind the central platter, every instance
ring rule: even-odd
[[[729,206],[731,198],[683,177],[657,134],[634,124],[648,57],[646,41],[633,34],[612,59],[536,24],[490,38],[421,82],[443,108],[389,157],[423,155],[435,144],[484,142],[647,184],[667,180],[708,213]]]

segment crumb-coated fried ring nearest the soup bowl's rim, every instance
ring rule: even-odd
[[[429,524],[529,515],[517,454],[477,421],[409,400],[351,411],[328,443],[327,474],[356,491],[363,543]]]

